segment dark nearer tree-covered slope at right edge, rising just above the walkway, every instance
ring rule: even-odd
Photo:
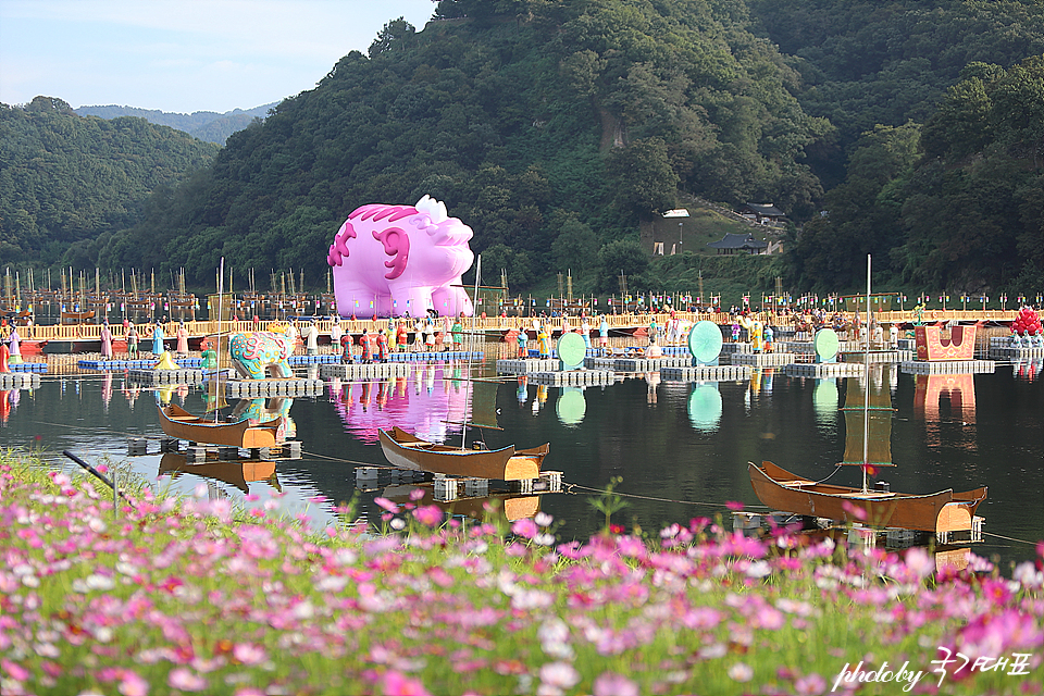
[[[866,134],[796,237],[790,279],[844,285],[867,253],[894,283],[1044,289],[1044,57],[972,63],[923,126]]]

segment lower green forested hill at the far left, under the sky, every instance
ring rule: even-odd
[[[113,231],[217,149],[141,119],[84,119],[61,99],[0,104],[0,263],[107,265]]]

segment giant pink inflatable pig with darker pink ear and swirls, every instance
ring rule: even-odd
[[[326,261],[341,316],[472,315],[461,274],[475,254],[471,227],[428,196],[415,206],[357,208],[340,226]],[[455,287],[456,286],[456,287]]]

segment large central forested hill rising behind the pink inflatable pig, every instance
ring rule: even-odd
[[[389,23],[369,55],[234,135],[107,256],[209,277],[224,254],[318,278],[353,208],[430,194],[524,286],[567,270],[560,233],[596,252],[636,239],[679,187],[815,209],[800,159],[830,126],[801,111],[797,74],[746,29],[742,2],[444,1],[438,13],[423,33]]]

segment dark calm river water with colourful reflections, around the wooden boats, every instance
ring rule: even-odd
[[[507,357],[505,344],[480,347],[484,360],[418,364],[409,376],[385,382],[327,383],[322,396],[295,399],[289,417],[303,455],[277,461],[274,476],[266,472],[264,480],[235,480],[227,471],[199,470],[210,475],[198,475],[190,469],[161,475],[179,462],[159,453],[163,434],[154,401],[173,399],[201,413],[202,391],[138,388],[122,373],[48,374],[35,390],[0,393],[0,447],[37,450],[52,465],[73,467],[61,455],[65,449],[92,464],[123,462],[139,476],[159,480],[161,487],[209,490],[246,507],[276,497],[281,509],[306,513],[314,525],[333,521],[332,508],[358,495],[353,514],[374,520],[381,510],[373,498],[403,490],[383,482],[365,492],[355,487],[357,465],[386,464],[377,428],[399,425],[424,438],[459,443],[456,423],[476,418],[474,391],[489,389],[469,377],[495,377],[498,352]],[[972,550],[1005,567],[1033,558],[1031,543],[1044,539],[1042,376],[1040,361],[997,363],[992,374],[915,376],[885,365],[870,375],[871,389],[887,390],[896,409],[892,456],[897,465],[881,477],[893,490],[907,493],[989,486],[978,511],[985,519],[984,540]],[[487,445],[550,443],[544,470],[561,471],[571,484],[571,493],[540,495],[514,508],[532,513],[538,506],[554,515],[559,539],[585,538],[600,529],[605,518],[591,500],[617,476],[627,505],[613,522],[655,533],[718,513],[728,523],[726,501],[757,510],[749,461],[768,459],[821,478],[843,457],[846,434],[838,408],[848,388],[845,378],[787,377],[771,370],[741,382],[704,384],[669,382],[658,374],[624,377],[584,389],[501,377],[495,388],[504,430],[484,431]],[[149,438],[150,453],[128,456],[129,437]],[[473,439],[472,431],[468,438]],[[858,468],[844,468],[831,481],[858,485]]]

